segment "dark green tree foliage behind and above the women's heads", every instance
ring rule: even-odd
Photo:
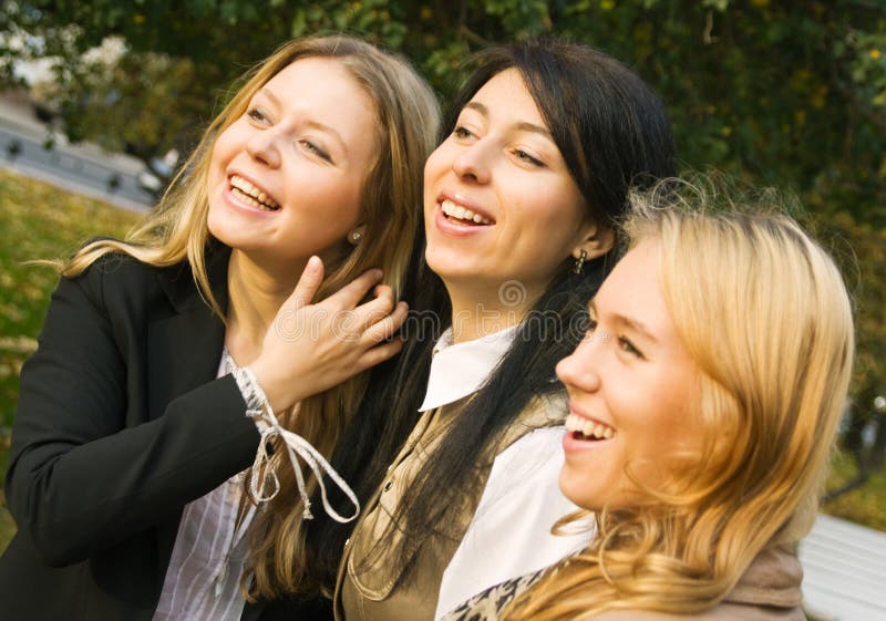
[[[817,211],[886,225],[886,4],[863,0],[30,0],[3,23],[58,54],[73,138],[142,155],[193,144],[243,70],[290,37],[401,50],[447,97],[480,48],[529,35],[599,46],[669,103],[682,161],[790,186]],[[71,24],[79,24],[72,27]],[[82,61],[125,40],[117,71]],[[2,51],[0,50],[0,54]],[[158,102],[165,101],[165,105]],[[99,108],[111,123],[102,124]],[[153,120],[153,121],[152,121]],[[110,135],[115,134],[115,135]]]

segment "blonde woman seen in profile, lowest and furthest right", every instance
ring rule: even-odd
[[[447,621],[804,619],[793,548],[846,399],[849,298],[777,203],[700,187],[633,196],[630,250],[557,366],[560,487],[596,537]]]

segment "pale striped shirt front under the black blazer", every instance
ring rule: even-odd
[[[218,376],[229,370],[223,359]],[[185,506],[163,592],[152,621],[239,621],[246,600],[240,577],[248,555],[249,504],[237,532],[243,476],[235,475]]]

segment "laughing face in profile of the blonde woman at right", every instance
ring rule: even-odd
[[[673,325],[659,281],[658,241],[645,240],[589,307],[591,329],[557,365],[569,393],[560,488],[577,505],[620,508],[699,454],[701,371]]]

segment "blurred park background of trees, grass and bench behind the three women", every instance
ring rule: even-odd
[[[444,107],[472,51],[539,34],[589,43],[659,92],[682,167],[797,195],[844,269],[858,330],[832,517],[801,548],[806,597],[820,619],[886,619],[886,0],[4,0],[0,474],[56,278],[22,262],[123,235],[233,80],[318,32],[401,51]],[[0,494],[0,550],[13,531]]]

